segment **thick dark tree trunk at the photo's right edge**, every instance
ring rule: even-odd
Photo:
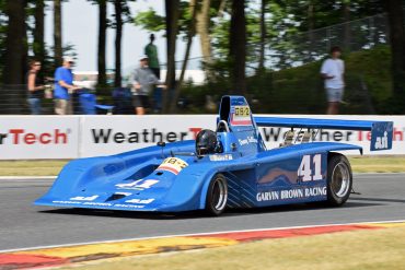
[[[404,114],[405,107],[405,30],[402,0],[387,0],[392,54],[393,98],[392,113]]]

